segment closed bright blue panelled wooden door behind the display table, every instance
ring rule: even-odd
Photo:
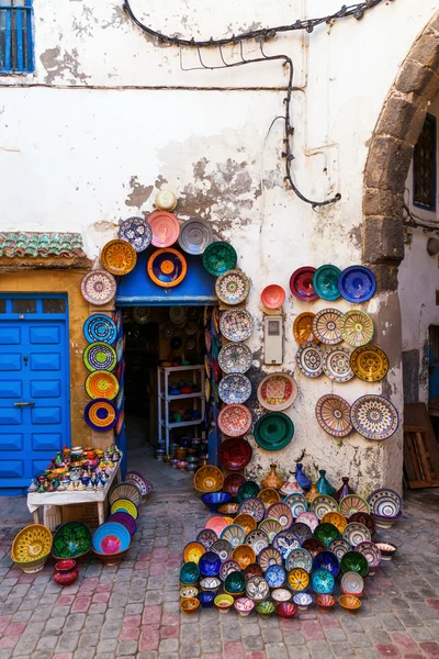
[[[0,495],[70,446],[67,299],[0,298]]]

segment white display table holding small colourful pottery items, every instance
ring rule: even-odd
[[[34,516],[35,524],[40,523],[38,509],[43,507],[43,524],[50,530],[55,530],[57,526],[63,523],[61,518],[61,506],[75,505],[81,503],[95,503],[98,505],[98,518],[99,526],[105,522],[105,499],[110,493],[113,481],[120,482],[121,480],[121,459],[117,462],[116,468],[110,476],[108,483],[102,490],[82,490],[77,492],[45,492],[44,494],[37,494],[36,492],[30,492],[27,494],[27,507]]]

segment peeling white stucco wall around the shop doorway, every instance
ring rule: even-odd
[[[221,71],[182,71],[178,48],[158,47],[123,14],[122,0],[35,0],[36,71],[0,80],[0,176],[3,231],[79,231],[91,258],[121,219],[153,210],[155,193],[172,189],[177,213],[200,214],[233,243],[251,278],[250,339],[261,348],[259,293],[271,282],[288,290],[293,270],[361,261],[361,201],[368,141],[410,44],[438,9],[437,0],[397,0],[360,22],[340,21],[313,34],[284,34],[267,54],[294,59],[294,179],[313,199],[340,192],[339,203],[314,212],[283,183],[282,129],[285,74],[277,63]],[[326,14],[339,0],[225,0],[193,4],[133,0],[139,16],[164,32],[210,37],[252,26]],[[247,57],[259,49],[247,45]],[[237,48],[227,51],[230,60]],[[217,54],[209,54],[217,62]],[[196,66],[184,52],[185,67]],[[261,181],[263,185],[261,186]],[[263,193],[262,193],[263,189]],[[378,312],[385,299],[365,311]],[[337,302],[346,310],[349,305]],[[292,323],[318,311],[288,300],[284,369],[300,395],[289,411],[294,440],[281,455],[258,451],[251,470],[273,458],[285,469],[303,457],[311,476],[326,468],[335,483],[351,476],[360,492],[401,484],[401,437],[385,446],[358,435],[337,442],[319,429],[315,403],[334,391],[353,402],[380,386],[309,380],[295,368]],[[396,323],[397,326],[397,323]],[[392,323],[386,327],[392,332]],[[380,344],[380,337],[376,337]],[[389,375],[401,407],[401,372]],[[395,457],[397,456],[397,458]]]

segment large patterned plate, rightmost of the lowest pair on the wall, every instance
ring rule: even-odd
[[[362,395],[352,405],[350,418],[353,427],[367,439],[389,439],[398,427],[396,407],[382,395]]]

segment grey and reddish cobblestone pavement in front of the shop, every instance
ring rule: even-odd
[[[91,560],[64,590],[52,581],[53,563],[37,574],[12,566],[11,540],[22,524],[4,526],[0,659],[439,657],[438,503],[431,492],[410,494],[398,525],[381,533],[398,552],[369,578],[361,611],[314,608],[290,622],[215,610],[180,614],[181,549],[207,516],[194,493],[183,501],[153,495],[128,558],[115,568]]]

